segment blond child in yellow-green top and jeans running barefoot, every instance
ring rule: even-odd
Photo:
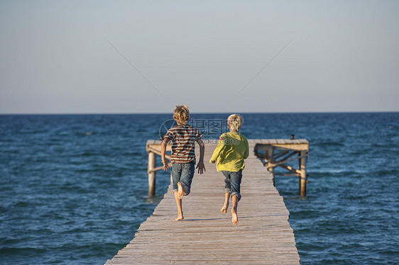
[[[217,171],[222,171],[225,176],[224,179],[224,205],[220,210],[222,213],[227,213],[229,208],[229,198],[233,203],[231,208],[231,222],[233,225],[238,225],[239,218],[237,216],[237,207],[241,199],[240,185],[242,179],[242,171],[245,167],[244,159],[248,157],[248,140],[244,135],[239,133],[244,118],[238,114],[232,114],[227,119],[230,132],[220,135],[214,153],[209,162],[216,164]]]

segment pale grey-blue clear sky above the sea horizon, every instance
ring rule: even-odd
[[[399,111],[399,1],[0,0],[0,113]]]

